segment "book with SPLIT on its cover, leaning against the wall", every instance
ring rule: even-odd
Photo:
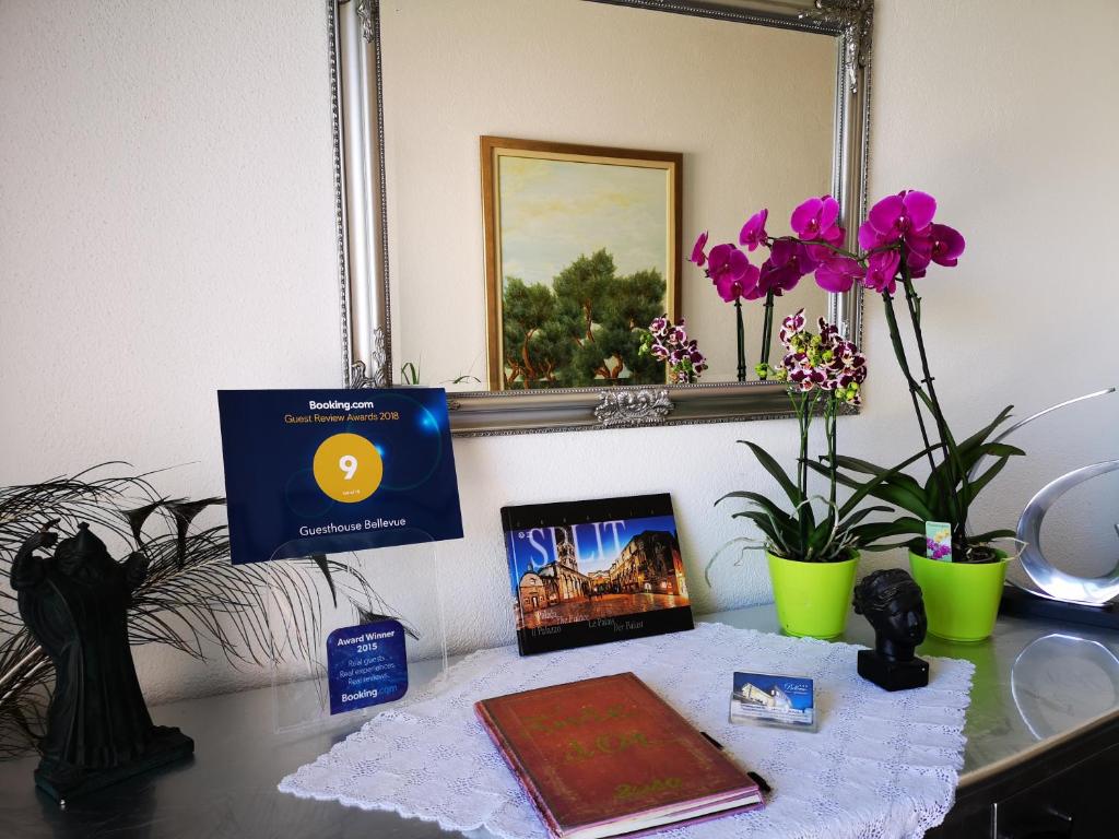
[[[502,507],[521,656],[693,629],[668,494]]]

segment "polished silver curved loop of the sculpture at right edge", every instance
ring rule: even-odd
[[[1042,521],[1053,503],[1073,487],[1108,472],[1119,471],[1119,460],[1093,463],[1063,474],[1034,496],[1018,519],[1018,539],[1026,543],[1022,567],[1044,594],[1054,600],[1101,606],[1119,596],[1119,560],[1101,577],[1078,577],[1053,566],[1042,553]]]

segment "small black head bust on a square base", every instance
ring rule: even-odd
[[[855,586],[855,613],[874,626],[874,649],[858,651],[859,676],[886,690],[929,684],[929,662],[913,656],[929,628],[924,598],[908,572],[885,568],[865,576]]]

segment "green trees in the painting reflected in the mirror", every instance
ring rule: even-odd
[[[507,276],[505,387],[662,384],[664,362],[639,350],[642,330],[665,312],[665,292],[655,268],[619,276],[604,248],[580,255],[549,285]]]

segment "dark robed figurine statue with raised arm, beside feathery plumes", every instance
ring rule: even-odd
[[[55,664],[55,690],[36,784],[58,801],[194,753],[178,728],[152,725],[129,647],[128,610],[148,572],[137,552],[119,564],[85,522],[58,541],[57,519],[11,564],[19,614]],[[57,543],[54,556],[37,556]]]

